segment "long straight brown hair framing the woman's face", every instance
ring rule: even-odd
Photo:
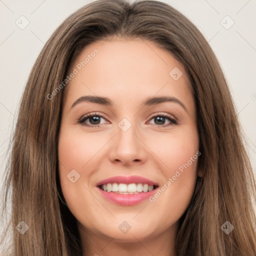
[[[91,2],[59,25],[37,57],[23,92],[6,168],[3,207],[10,195],[13,254],[81,255],[75,218],[64,202],[58,177],[66,87],[51,99],[47,95],[65,79],[70,63],[86,45],[113,36],[150,40],[168,50],[184,66],[192,86],[203,178],[179,221],[175,255],[256,255],[251,203],[256,186],[219,63],[191,21],[153,0]],[[15,228],[20,221],[29,227],[24,234]],[[228,234],[221,228],[226,221],[234,227]]]

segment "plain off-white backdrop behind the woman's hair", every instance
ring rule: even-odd
[[[0,184],[10,134],[32,65],[55,28],[89,2],[92,0],[0,0]],[[235,102],[256,176],[256,0],[163,2],[188,17],[215,52]]]

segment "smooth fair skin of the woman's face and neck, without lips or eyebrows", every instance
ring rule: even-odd
[[[201,176],[197,160],[153,202],[117,205],[97,191],[96,183],[115,175],[139,175],[161,187],[196,154],[199,137],[187,75],[168,51],[153,42],[123,38],[88,45],[70,70],[95,48],[99,52],[68,84],[58,144],[61,188],[77,219],[83,256],[173,255],[178,220],[191,200],[196,176]],[[183,73],[176,81],[169,75],[173,67]],[[108,97],[113,105],[84,101],[71,107],[84,95]],[[142,106],[148,97],[166,95],[179,99],[187,111],[175,102]],[[89,118],[85,121],[89,126],[78,123],[93,112],[103,116],[100,124]],[[152,116],[159,113],[177,124],[167,118],[157,122]],[[118,126],[123,118],[131,123],[125,132]],[[72,169],[80,175],[74,183],[67,178]],[[126,233],[118,228],[123,221],[131,227]]]

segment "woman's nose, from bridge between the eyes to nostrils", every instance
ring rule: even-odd
[[[125,166],[143,163],[147,155],[146,146],[139,134],[135,125],[127,130],[118,127],[109,153],[110,160]]]

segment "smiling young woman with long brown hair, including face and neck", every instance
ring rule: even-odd
[[[255,183],[225,78],[160,1],[94,1],[54,31],[6,175],[12,255],[256,254]]]

